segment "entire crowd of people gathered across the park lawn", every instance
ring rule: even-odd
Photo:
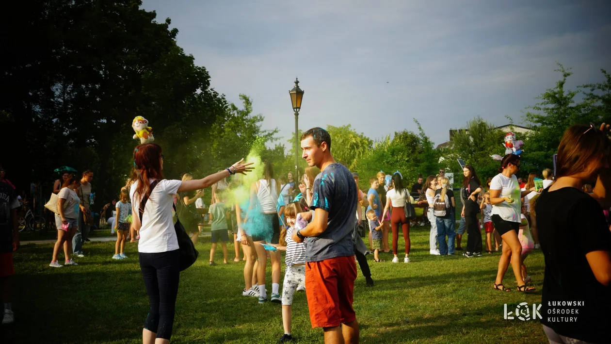
[[[551,312],[552,301],[585,304],[580,313],[584,320],[579,323],[558,324],[543,317],[544,332],[550,342],[606,342],[610,337],[604,326],[611,320],[607,314],[611,306],[611,231],[609,211],[603,208],[611,207],[611,194],[605,188],[611,175],[602,171],[609,169],[608,131],[608,126],[569,128],[558,147],[557,173],[554,176],[550,169],[545,169],[543,180],[535,172],[525,182],[517,178],[521,158],[513,154],[503,157],[499,174],[487,178],[485,185],[475,167],[466,165],[461,188],[457,189],[460,205],[450,180],[445,177],[445,169],[426,178],[419,175],[411,191],[400,172],[387,180],[380,171],[369,178],[369,189],[360,190],[359,175],[335,161],[331,137],[321,128],[312,128],[301,137],[302,157],[309,167],[299,181],[293,180],[292,174],[274,178],[273,166],[265,162],[257,180],[246,185],[244,178],[236,175],[252,173],[251,164],[243,161],[202,179],[185,174],[181,180],[167,180],[163,176],[161,147],[142,144],[134,150],[133,177],[121,189],[119,201],[112,203],[115,214],[109,223],[117,233],[112,258],[127,258],[128,237],[138,241],[139,263],[150,301],[143,342],[169,342],[180,277],[175,219],[192,233],[191,240],[197,243],[205,213],[211,225],[209,265],[216,265],[218,243],[222,246],[223,263],[229,263],[227,243],[233,240],[234,261],[245,261],[242,295],[257,298],[260,304],[282,304],[284,334],[280,343],[293,340],[291,307],[296,291],[305,291],[312,327],[323,328],[326,343],[356,343],[359,338],[353,307],[356,262],[367,286],[373,287],[365,255],[373,254],[373,262],[379,263],[384,262],[383,254],[392,254],[392,263],[400,262],[401,230],[403,262],[412,262],[410,228],[428,221],[431,255],[463,251],[463,257],[473,258],[484,251],[492,254],[500,250],[492,284],[495,290],[511,291],[503,284],[511,265],[517,290],[535,291],[530,285],[525,258],[533,249],[541,249],[546,262],[541,314]],[[234,175],[228,182],[227,178]],[[72,257],[84,257],[82,243],[87,240],[92,217],[92,178],[91,170],[84,171],[80,178],[66,173],[54,185],[58,235],[50,266],[78,265]],[[587,188],[585,185],[592,181],[596,181],[595,186]],[[210,206],[208,211],[202,211],[203,190],[209,187],[213,189]],[[2,197],[6,200],[0,210],[5,219],[15,216],[18,207],[13,202],[14,189],[0,181],[0,196],[5,195]],[[235,197],[236,194],[248,196]],[[456,211],[460,211],[460,221],[456,221]],[[5,252],[0,255],[3,262],[0,277],[4,284],[14,274],[14,270],[9,271],[12,269],[9,252],[18,247],[16,229],[14,232],[12,240],[0,243]],[[464,235],[467,243],[463,249]],[[364,238],[368,238],[369,247]],[[62,249],[64,265],[59,263]],[[282,293],[280,251],[286,252]],[[10,300],[10,295],[3,294],[4,319],[12,321],[7,298]]]

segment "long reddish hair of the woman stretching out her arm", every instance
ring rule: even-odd
[[[134,149],[134,168],[136,169],[136,180],[138,185],[134,196],[144,197],[150,188],[149,180],[162,180],[161,172],[161,146],[158,144],[141,144]]]

